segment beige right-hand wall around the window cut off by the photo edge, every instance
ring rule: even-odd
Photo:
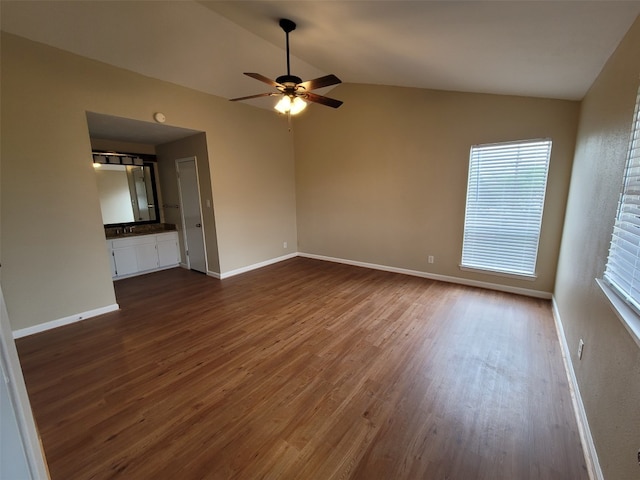
[[[637,19],[583,101],[555,291],[607,479],[640,475],[640,348],[594,282],[606,263],[639,76]]]

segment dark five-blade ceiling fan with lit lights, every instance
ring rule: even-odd
[[[259,93],[257,95],[249,95],[248,97],[232,98],[231,101],[237,102],[238,100],[249,100],[251,98],[282,96],[282,99],[275,106],[275,109],[280,113],[288,113],[290,115],[295,115],[304,110],[307,106],[306,101],[319,103],[320,105],[325,105],[332,108],[338,108],[340,105],[342,105],[342,102],[340,100],[325,97],[311,92],[311,90],[315,90],[317,88],[329,87],[331,85],[342,83],[342,81],[335,75],[326,75],[324,77],[316,78],[314,80],[308,80],[306,82],[303,82],[300,77],[291,75],[289,61],[289,33],[296,29],[296,24],[291,20],[283,18],[280,20],[280,28],[284,30],[287,40],[287,74],[281,75],[275,80],[271,80],[270,78],[267,78],[264,75],[260,75],[259,73],[245,72],[245,75],[251,78],[255,78],[256,80],[260,80],[267,85],[271,85],[278,91]]]

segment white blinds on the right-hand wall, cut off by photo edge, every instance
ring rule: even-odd
[[[604,271],[605,281],[640,312],[640,89],[636,97],[633,128],[624,175]]]

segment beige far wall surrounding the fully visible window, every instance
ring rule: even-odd
[[[577,102],[353,84],[331,96],[339,110],[295,124],[301,252],[553,291]],[[539,137],[553,151],[537,280],[461,271],[469,148]]]

